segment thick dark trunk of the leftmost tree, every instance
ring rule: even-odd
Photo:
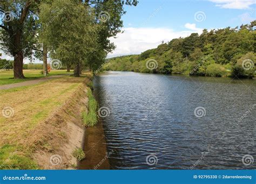
[[[23,75],[23,53],[18,52],[14,58],[14,79],[24,79]]]

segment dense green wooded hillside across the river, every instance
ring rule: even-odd
[[[203,30],[139,55],[110,59],[105,70],[200,76],[254,76],[256,20],[250,25]]]

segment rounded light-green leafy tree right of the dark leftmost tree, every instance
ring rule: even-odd
[[[94,13],[79,1],[56,0],[41,4],[40,9],[41,42],[50,47],[51,58],[73,63],[74,76],[79,76],[87,55],[97,51],[98,26],[94,24]]]

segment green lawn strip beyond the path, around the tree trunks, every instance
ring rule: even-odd
[[[33,69],[33,70],[25,69],[25,70],[23,70],[23,73],[24,73],[26,79],[14,79],[14,72],[12,70],[9,70],[9,71],[1,70],[0,71],[0,86],[4,85],[4,84],[24,82],[24,81],[39,79],[39,78],[44,77],[44,75],[41,74],[41,70],[39,70],[39,69]],[[66,72],[65,69],[51,70],[48,76],[61,75],[61,74],[73,74],[73,72]]]

